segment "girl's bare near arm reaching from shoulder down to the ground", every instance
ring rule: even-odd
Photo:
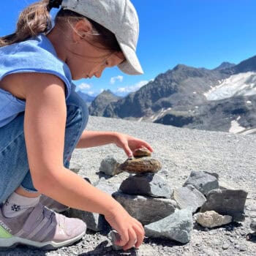
[[[129,249],[143,242],[143,226],[111,197],[63,166],[67,117],[64,84],[46,74],[20,74],[26,95],[24,134],[35,188],[72,208],[105,215]],[[137,242],[135,242],[137,241]]]

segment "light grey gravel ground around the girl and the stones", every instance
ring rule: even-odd
[[[145,238],[138,250],[116,252],[105,234],[88,232],[78,244],[56,251],[43,252],[19,246],[0,252],[0,255],[256,255],[255,241],[246,241],[245,238],[251,232],[250,217],[256,217],[256,135],[179,129],[162,124],[92,116],[88,129],[124,132],[151,143],[153,157],[162,162],[159,174],[165,176],[173,187],[181,187],[192,170],[218,173],[220,183],[249,192],[245,221],[213,229],[195,225],[192,239],[185,245]],[[72,161],[81,165],[80,176],[97,181],[100,162],[107,155],[114,155],[120,162],[126,159],[121,148],[109,145],[77,149]],[[109,180],[120,183],[127,176],[127,173],[121,173]]]

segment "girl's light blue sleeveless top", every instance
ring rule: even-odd
[[[45,35],[0,48],[0,80],[14,73],[37,72],[56,75],[65,84],[66,99],[72,89],[72,75],[69,67],[56,54]],[[35,83],[35,86],[37,84]],[[10,92],[0,89],[0,127],[12,121],[25,110],[26,101]]]

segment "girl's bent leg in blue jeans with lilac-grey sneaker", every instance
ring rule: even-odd
[[[73,244],[86,233],[86,224],[82,220],[56,214],[43,207],[41,203],[35,203],[36,198],[23,197],[14,193],[20,184],[27,192],[36,192],[26,157],[23,119],[22,113],[9,125],[0,128],[0,166],[4,165],[4,168],[0,169],[0,202],[5,201],[5,207],[8,206],[9,200],[20,200],[29,207],[23,207],[21,214],[14,214],[13,217],[4,216],[2,211],[4,207],[0,207],[0,249],[10,248],[15,244],[27,244],[44,249]],[[69,165],[69,158],[87,121],[87,107],[73,91],[67,101],[64,148],[66,167]],[[13,208],[12,211],[16,211],[19,205]]]

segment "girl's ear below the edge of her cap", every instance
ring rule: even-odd
[[[91,32],[92,26],[88,20],[78,20],[72,29],[72,39],[74,42],[78,43],[86,37],[86,34],[90,34]]]

